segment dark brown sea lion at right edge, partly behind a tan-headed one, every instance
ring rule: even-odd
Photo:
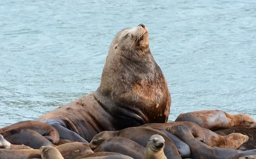
[[[230,127],[228,129],[222,129],[218,131],[214,131],[219,135],[229,135],[231,133],[242,133],[249,137],[248,141],[241,145],[238,149],[242,151],[256,149],[256,127],[247,127],[247,126],[237,126]]]

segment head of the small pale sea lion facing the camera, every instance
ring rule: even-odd
[[[148,140],[148,145],[152,151],[160,151],[164,148],[164,138],[161,135],[152,135]]]

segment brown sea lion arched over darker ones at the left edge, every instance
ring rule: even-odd
[[[46,123],[42,123],[40,121],[33,121],[33,120],[20,121],[18,123],[14,123],[12,125],[3,127],[0,130],[9,131],[12,129],[30,129],[30,130],[36,131],[37,133],[43,135],[46,139],[51,141],[53,144],[58,143],[60,139],[59,133],[54,127]]]

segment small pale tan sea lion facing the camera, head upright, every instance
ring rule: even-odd
[[[143,159],[167,159],[164,155],[164,142],[161,135],[152,135],[148,140]]]

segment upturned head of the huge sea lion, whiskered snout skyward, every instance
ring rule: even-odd
[[[122,54],[130,53],[131,50],[145,50],[149,48],[148,43],[148,29],[144,24],[139,24],[133,28],[124,28],[119,31],[112,43],[110,48],[114,48],[117,52]],[[114,51],[114,50],[112,50]]]

